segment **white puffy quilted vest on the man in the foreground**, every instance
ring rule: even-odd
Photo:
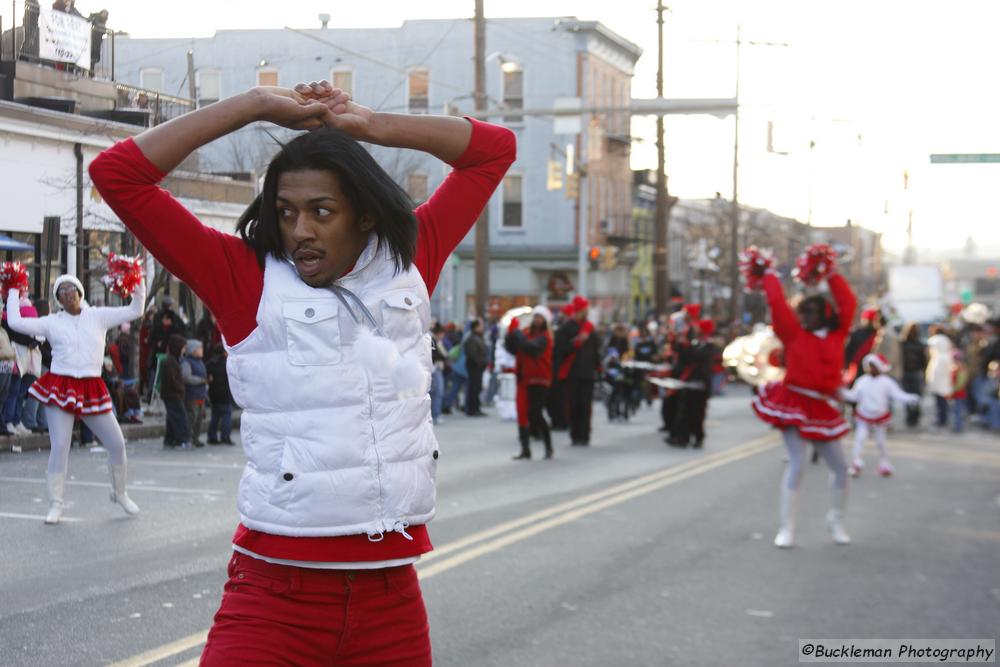
[[[372,235],[337,281],[357,295],[400,353],[431,375],[430,299],[415,267],[394,275]],[[247,464],[243,525],[274,535],[403,531],[434,516],[437,440],[427,391],[399,398],[387,373],[368,371],[353,341],[365,316],[294,267],[268,257],[257,328],[228,347],[229,382],[243,407]]]

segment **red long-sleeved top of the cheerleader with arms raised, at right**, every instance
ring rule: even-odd
[[[843,379],[844,341],[851,329],[858,300],[840,274],[830,276],[827,285],[837,304],[840,326],[821,337],[806,331],[799,324],[798,317],[785,301],[785,292],[778,277],[773,274],[764,276],[771,324],[775,335],[785,346],[785,384],[835,394]]]

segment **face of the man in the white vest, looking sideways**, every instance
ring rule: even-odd
[[[340,179],[331,171],[283,173],[275,205],[285,252],[310,287],[326,287],[344,275],[375,226],[358,219],[340,189]]]

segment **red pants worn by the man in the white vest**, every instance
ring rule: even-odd
[[[202,667],[431,664],[412,565],[313,570],[234,553]]]

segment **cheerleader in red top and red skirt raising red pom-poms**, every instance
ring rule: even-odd
[[[749,251],[748,251],[749,252]],[[757,264],[756,284],[763,287],[771,309],[774,333],[785,347],[785,378],[758,388],[753,409],[763,421],[781,429],[788,450],[788,468],[781,484],[781,526],[775,546],[791,547],[803,461],[812,442],[831,472],[830,510],[827,522],[837,544],[849,544],[844,528],[847,503],[847,464],[840,437],[849,426],[840,411],[844,341],[850,331],[857,298],[847,280],[836,272],[828,246],[813,246],[799,263],[799,278],[807,284],[825,280],[831,304],[815,294],[799,301],[795,310],[785,300],[778,275]],[[746,274],[747,271],[744,270]],[[748,281],[749,282],[749,281]]]

